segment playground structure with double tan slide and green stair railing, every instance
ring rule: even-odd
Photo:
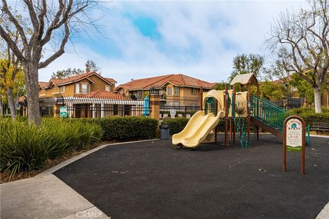
[[[256,95],[251,94],[252,86],[256,87]],[[289,111],[259,97],[259,84],[254,74],[236,75],[230,89],[228,87],[226,84],[225,90],[201,92],[201,110],[191,117],[183,131],[173,135],[173,144],[193,149],[202,142],[217,142],[220,119],[225,120],[225,146],[229,133],[233,142],[239,133],[241,147],[248,148],[252,127],[257,140],[260,127],[282,139],[283,123]],[[247,91],[241,91],[243,89]]]

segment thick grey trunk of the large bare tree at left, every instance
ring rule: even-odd
[[[23,70],[27,92],[27,115],[29,117],[29,123],[40,125],[38,62],[27,62],[23,64]]]

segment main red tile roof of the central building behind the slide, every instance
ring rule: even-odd
[[[136,79],[123,83],[115,90],[119,88],[124,88],[126,90],[148,90],[152,86],[160,87],[164,86],[166,83],[173,83],[175,86],[187,86],[199,88],[203,86],[204,88],[211,89],[217,85],[217,83],[210,83],[207,81],[202,81],[194,77],[189,77],[187,75],[162,75],[158,77],[148,77],[143,79]]]

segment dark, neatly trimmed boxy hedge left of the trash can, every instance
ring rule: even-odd
[[[103,129],[103,140],[143,140],[156,137],[158,120],[147,117],[111,116],[107,118],[74,118],[97,124]]]

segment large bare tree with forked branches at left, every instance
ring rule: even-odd
[[[79,26],[93,25],[86,10],[94,8],[98,3],[92,0],[23,0],[32,29],[32,33],[28,34],[15,18],[7,1],[1,1],[1,18],[7,17],[19,32],[23,52],[3,25],[0,25],[0,35],[23,66],[29,121],[40,125],[38,69],[45,68],[64,53],[69,36],[80,31]],[[55,45],[52,55],[41,61],[42,52],[51,42]]]

